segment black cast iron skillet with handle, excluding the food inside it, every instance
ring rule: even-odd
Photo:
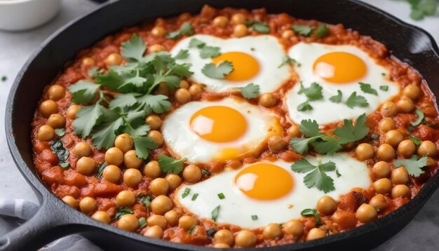
[[[149,250],[208,250],[206,247],[170,243],[129,233],[97,222],[70,208],[41,181],[32,162],[31,122],[43,89],[82,48],[93,46],[107,34],[122,27],[156,17],[168,17],[189,11],[198,13],[204,4],[217,8],[267,8],[269,13],[287,12],[297,18],[342,23],[386,44],[393,55],[418,69],[439,93],[439,49],[433,38],[411,25],[358,1],[346,0],[124,0],[104,4],[102,8],[75,20],[50,36],[26,62],[11,88],[6,109],[6,136],[9,149],[22,175],[39,198],[41,209],[18,229],[0,238],[0,250],[34,250],[71,233],[81,233],[106,250],[121,248]],[[267,250],[368,250],[383,243],[402,229],[419,212],[437,189],[439,175],[432,177],[409,203],[351,231],[294,245],[268,247]]]

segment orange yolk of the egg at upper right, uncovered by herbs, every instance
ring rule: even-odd
[[[332,83],[350,83],[363,78],[367,67],[360,57],[337,51],[318,57],[313,70],[320,78]]]

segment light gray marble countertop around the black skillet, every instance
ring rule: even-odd
[[[422,27],[439,41],[439,13],[421,21],[410,20],[410,6],[405,1],[363,0],[396,15],[405,22]],[[8,79],[0,82],[0,118],[4,121],[6,99],[11,84],[27,58],[41,42],[56,29],[88,11],[97,4],[87,0],[63,0],[60,13],[46,25],[26,32],[0,31],[0,76]],[[4,133],[4,123],[0,123],[0,197],[23,198],[38,203],[32,189],[27,185],[9,154]],[[439,191],[433,194],[417,217],[396,236],[375,250],[439,250]],[[0,217],[1,222],[1,217]]]

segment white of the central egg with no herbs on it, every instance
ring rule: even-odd
[[[196,111],[211,106],[231,107],[240,111],[248,125],[245,134],[232,142],[210,142],[194,133],[189,127],[191,116]],[[233,121],[230,123],[233,126]],[[227,97],[218,101],[184,104],[166,117],[162,134],[173,154],[187,158],[191,163],[197,163],[215,160],[217,154],[225,148],[240,149],[243,154],[252,151],[273,133],[281,133],[281,128],[278,127],[278,120],[271,111],[262,110],[238,97]]]

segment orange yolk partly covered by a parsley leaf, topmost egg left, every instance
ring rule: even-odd
[[[229,53],[222,53],[212,59],[212,62],[215,65],[219,65],[224,61],[229,61],[234,66],[234,71],[224,78],[229,81],[249,80],[259,72],[259,62],[257,62],[255,57],[252,57],[247,53],[231,51]]]

